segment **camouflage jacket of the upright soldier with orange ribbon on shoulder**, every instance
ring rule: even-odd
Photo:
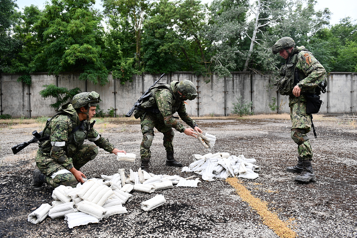
[[[306,101],[305,94],[315,92],[315,88],[318,84],[325,80],[326,70],[320,62],[316,60],[312,53],[305,49],[305,46],[296,47],[294,52],[297,54],[295,69],[298,70],[300,77],[300,82],[298,82],[297,85],[302,91],[300,100]],[[283,69],[288,67],[289,64],[293,64],[293,62],[290,62],[291,58],[292,57],[290,57],[286,61],[286,64],[281,67],[280,75],[285,76]],[[290,103],[295,103],[298,101],[298,97],[290,94],[289,101]]]

